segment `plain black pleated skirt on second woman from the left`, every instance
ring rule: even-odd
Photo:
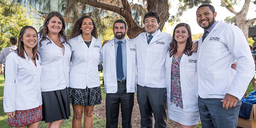
[[[70,105],[68,88],[42,92],[42,113],[45,123],[69,119]]]

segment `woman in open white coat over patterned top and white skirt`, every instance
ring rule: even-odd
[[[165,67],[168,117],[178,128],[194,128],[199,121],[196,97],[196,53],[191,52],[192,37],[188,24],[173,31]]]

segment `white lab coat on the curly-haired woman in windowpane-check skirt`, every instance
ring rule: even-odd
[[[85,89],[99,87],[99,59],[101,41],[92,37],[90,47],[84,43],[82,35],[69,40],[72,52],[72,65],[69,69],[69,87]]]

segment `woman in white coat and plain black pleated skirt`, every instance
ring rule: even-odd
[[[63,119],[70,116],[68,71],[71,50],[63,16],[59,12],[49,13],[38,35],[42,62],[42,120],[50,128],[60,128]]]

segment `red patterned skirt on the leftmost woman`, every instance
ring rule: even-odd
[[[12,127],[23,127],[41,121],[42,105],[28,110],[16,110],[15,119],[8,118],[7,124]]]

